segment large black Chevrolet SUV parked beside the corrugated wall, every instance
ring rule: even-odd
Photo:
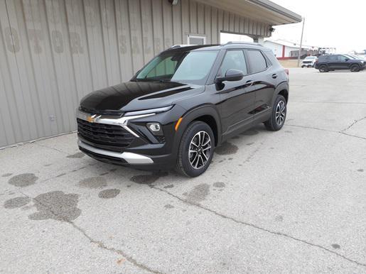
[[[77,109],[79,148],[97,160],[195,177],[216,146],[286,119],[288,71],[261,45],[175,46]]]

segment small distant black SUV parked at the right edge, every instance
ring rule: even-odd
[[[366,61],[343,54],[332,54],[319,56],[316,60],[315,68],[320,72],[329,72],[332,70],[350,70],[359,72],[366,67]]]

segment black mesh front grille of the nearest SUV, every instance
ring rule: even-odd
[[[77,119],[77,131],[82,138],[103,146],[127,147],[134,136],[122,126],[90,123]]]

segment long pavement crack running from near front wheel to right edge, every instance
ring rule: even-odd
[[[307,244],[308,246],[313,246],[313,247],[315,247],[315,248],[320,248],[320,249],[322,249],[323,251],[326,251],[326,252],[328,252],[328,253],[333,253],[333,254],[335,254],[336,256],[339,256],[340,258],[343,258],[343,259],[345,259],[345,260],[347,260],[347,261],[349,261],[349,262],[351,262],[351,263],[355,263],[356,265],[360,265],[360,266],[364,266],[364,267],[366,267],[366,263],[360,263],[360,262],[358,262],[358,261],[352,260],[351,258],[348,258],[348,257],[346,257],[346,256],[344,256],[344,255],[342,255],[342,254],[340,254],[340,253],[338,253],[338,252],[332,251],[332,250],[330,250],[329,248],[326,248],[326,247],[321,246],[321,245],[319,245],[319,244],[311,243],[311,242],[306,241],[306,240],[303,240],[303,239],[298,239],[298,238],[296,238],[296,237],[294,237],[294,236],[291,236],[291,235],[286,234],[286,233],[283,233],[283,232],[279,232],[279,231],[271,231],[270,229],[266,229],[266,228],[264,228],[264,227],[262,227],[262,226],[258,226],[258,225],[256,225],[256,224],[251,224],[251,223],[248,223],[248,222],[246,222],[246,221],[240,221],[240,220],[237,220],[237,219],[235,219],[235,218],[233,218],[233,217],[226,216],[225,214],[222,214],[222,213],[220,213],[220,212],[216,212],[215,210],[210,209],[210,208],[208,208],[208,207],[204,207],[202,204],[195,204],[195,203],[189,202],[188,200],[186,200],[186,199],[182,199],[181,197],[177,196],[176,194],[173,194],[173,193],[171,193],[171,192],[168,192],[167,190],[163,190],[163,189],[161,189],[161,188],[159,188],[159,187],[155,187],[154,185],[150,185],[150,187],[151,187],[151,188],[153,188],[154,190],[159,190],[159,191],[161,191],[161,192],[165,192],[166,194],[170,195],[171,197],[174,197],[174,198],[178,199],[179,201],[181,201],[181,202],[183,202],[183,203],[185,203],[185,204],[188,204],[188,205],[193,206],[193,207],[198,207],[198,208],[203,209],[203,210],[205,210],[205,211],[207,211],[207,212],[210,212],[210,213],[212,213],[212,214],[215,214],[215,215],[216,215],[216,216],[218,216],[218,217],[221,217],[221,218],[224,218],[224,219],[228,219],[228,220],[230,220],[230,221],[234,221],[235,223],[237,223],[237,224],[242,224],[242,225],[244,225],[244,226],[250,226],[250,227],[252,227],[252,228],[254,228],[254,229],[257,229],[257,230],[260,230],[260,231],[264,231],[264,232],[267,232],[267,233],[269,233],[269,234],[273,234],[273,235],[276,235],[276,236],[283,236],[283,237],[286,237],[287,239],[292,239],[292,240],[294,240],[294,241],[298,241],[298,242],[300,242],[300,243],[305,243],[305,244]]]

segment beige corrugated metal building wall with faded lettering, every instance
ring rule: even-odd
[[[95,89],[124,82],[188,34],[268,36],[269,26],[202,2],[0,0],[0,147],[75,131]]]

